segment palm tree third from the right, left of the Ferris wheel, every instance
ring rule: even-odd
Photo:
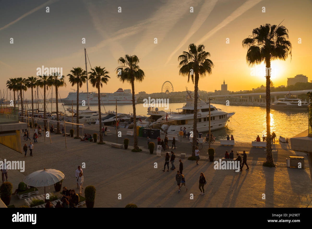
[[[138,136],[136,132],[136,113],[135,113],[135,98],[134,98],[134,81],[142,82],[144,79],[144,71],[139,67],[139,58],[136,55],[125,55],[118,59],[120,65],[116,68],[117,78],[121,82],[131,83],[132,87],[132,107],[133,107],[133,128],[134,128],[134,150],[139,150]],[[120,71],[119,71],[120,69]]]

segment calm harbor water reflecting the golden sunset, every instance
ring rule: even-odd
[[[31,105],[27,104],[28,108]],[[235,111],[235,115],[231,118],[228,126],[220,130],[212,131],[216,136],[216,140],[224,139],[227,135],[233,135],[236,141],[254,141],[257,135],[266,135],[266,108],[265,107],[247,107],[247,106],[225,106],[221,104],[213,104],[217,108],[221,108],[224,111]],[[43,107],[40,105],[40,109]],[[170,103],[169,109],[166,112],[176,111],[177,108],[183,106],[183,103]],[[36,107],[36,106],[34,106]],[[58,104],[59,111],[64,112],[64,108],[71,107],[70,105]],[[106,112],[115,110],[115,105],[105,105]],[[105,112],[103,105],[101,106],[101,112]],[[74,105],[74,109],[76,105]],[[47,109],[51,112],[51,103],[47,105]],[[79,109],[86,109],[85,106],[79,106]],[[90,109],[98,110],[97,105],[90,105]],[[56,104],[52,104],[52,110],[56,111]],[[159,110],[164,110],[160,107]],[[132,113],[132,105],[118,105],[118,113]],[[146,115],[147,107],[143,106],[143,103],[136,104],[136,113],[138,115]],[[271,110],[271,132],[274,131],[276,136],[293,137],[308,128],[308,112],[298,111],[278,111]]]

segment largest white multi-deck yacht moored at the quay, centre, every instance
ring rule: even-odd
[[[167,118],[168,122],[162,125],[162,130],[169,135],[178,135],[180,128],[186,127],[186,131],[193,131],[194,122],[194,92],[187,91],[186,103],[183,107],[178,108],[178,112],[171,113]],[[210,106],[210,130],[217,130],[227,126],[230,118],[235,112],[226,112],[215,106],[204,102],[199,98],[197,101],[197,131],[209,131],[209,106]],[[179,110],[182,110],[181,112]],[[166,121],[166,117],[164,118]]]

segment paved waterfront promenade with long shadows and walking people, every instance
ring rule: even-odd
[[[109,136],[105,136],[104,140],[116,137],[114,128],[109,128]],[[126,130],[120,131],[123,133]],[[93,132],[89,129],[88,133]],[[124,137],[125,135],[122,135],[119,138],[119,143],[122,144]],[[8,171],[8,181],[13,183],[14,190],[23,177],[44,168],[62,171],[66,177],[63,186],[68,189],[77,188],[75,170],[78,165],[85,163],[83,186],[95,186],[95,207],[124,207],[128,203],[135,203],[139,207],[312,207],[309,169],[285,166],[286,155],[304,156],[304,153],[290,151],[289,145],[275,146],[277,151],[273,153],[274,160],[280,162],[277,163],[277,168],[267,168],[261,165],[265,160],[264,148],[251,148],[251,145],[243,143],[237,143],[235,147],[217,146],[214,143],[212,147],[216,149],[215,159],[223,157],[225,150],[249,152],[247,163],[250,169],[244,168],[242,172],[215,170],[213,163],[207,161],[207,149],[204,147],[201,150],[201,158],[204,160],[200,160],[199,165],[196,165],[195,161],[183,159],[183,174],[188,191],[183,187],[178,194],[175,181],[178,159],[181,152],[191,154],[189,143],[177,142],[177,149],[173,150],[177,154],[177,169],[163,172],[164,157],[157,157],[155,152],[150,155],[147,147],[143,148],[144,151],[136,153],[131,152],[132,147],[128,150],[112,148],[109,146],[110,141],[105,145],[98,145],[68,137],[65,149],[65,137],[52,133],[51,139],[52,144],[49,139],[46,138],[44,142],[43,136],[40,137],[38,143],[34,144],[33,157],[29,156],[28,150],[26,158],[0,145],[0,159],[25,160],[25,172]],[[129,139],[132,146],[133,140],[130,136]],[[27,141],[27,144],[29,142]],[[139,138],[139,142],[140,146],[147,145],[143,138]],[[158,168],[154,168],[155,162]],[[307,164],[307,161],[305,163]],[[205,195],[198,195],[200,172],[205,174],[207,180]],[[43,188],[39,190],[40,194],[43,194]],[[50,186],[50,189],[46,190],[54,192],[54,187]],[[118,199],[119,194],[121,199]],[[193,199],[190,199],[190,194],[194,195]],[[263,194],[266,199],[262,199]],[[10,204],[18,207],[24,204],[24,200],[12,197]]]

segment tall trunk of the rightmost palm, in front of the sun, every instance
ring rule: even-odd
[[[270,91],[270,76],[271,76],[271,61],[270,58],[266,59],[266,69],[268,70],[268,75],[266,76],[266,162],[273,164],[272,155],[272,144],[271,144],[271,91]]]

